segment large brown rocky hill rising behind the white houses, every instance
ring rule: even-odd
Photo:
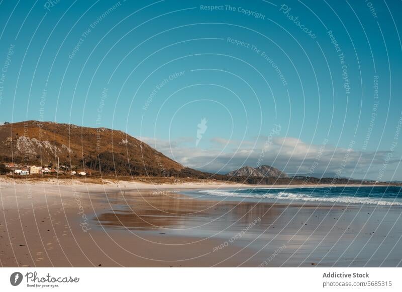
[[[54,122],[0,125],[0,163],[85,168],[119,175],[170,176],[184,167],[122,132]]]

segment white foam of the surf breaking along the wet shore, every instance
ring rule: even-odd
[[[309,201],[309,202],[331,202],[331,203],[346,203],[346,204],[370,204],[370,205],[398,205],[402,206],[400,201],[385,201],[373,198],[359,198],[350,196],[341,197],[313,197],[302,193],[289,193],[289,192],[279,192],[277,194],[244,194],[229,191],[217,191],[217,190],[203,190],[200,193],[221,196],[221,197],[240,197],[240,198],[256,198],[256,199],[276,199],[276,200],[298,200],[298,201]]]

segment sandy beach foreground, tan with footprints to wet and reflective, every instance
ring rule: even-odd
[[[401,266],[400,207],[221,201],[194,188],[1,183],[0,264]]]

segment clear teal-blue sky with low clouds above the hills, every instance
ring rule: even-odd
[[[0,14],[1,120],[119,129],[211,172],[260,159],[402,180],[400,2],[3,1]]]

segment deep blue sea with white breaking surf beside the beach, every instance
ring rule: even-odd
[[[342,204],[399,205],[402,206],[402,187],[316,187],[316,188],[243,188],[200,190],[208,196],[263,199],[263,201],[307,201]]]

